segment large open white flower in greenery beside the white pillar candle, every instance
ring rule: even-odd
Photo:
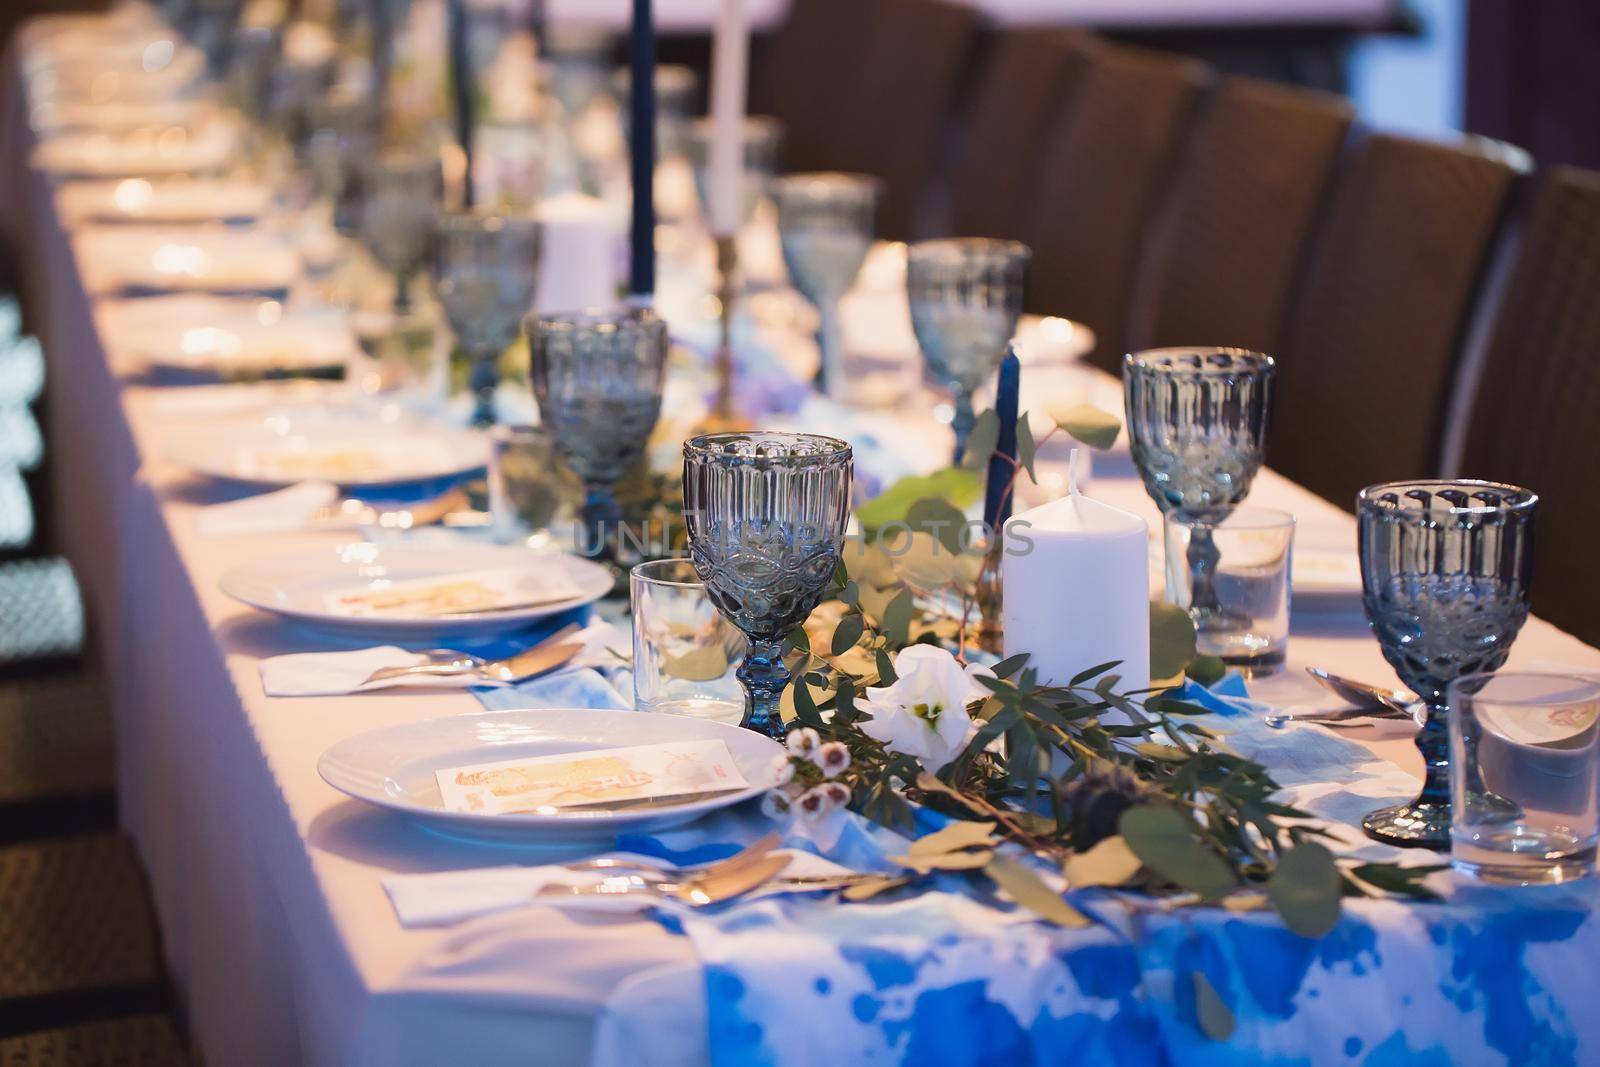
[[[950,653],[933,645],[910,645],[894,657],[894,685],[866,691],[862,710],[872,718],[862,733],[882,741],[890,752],[915,757],[938,771],[957,757],[973,729],[966,705],[989,696],[976,681],[982,667],[962,667]]]

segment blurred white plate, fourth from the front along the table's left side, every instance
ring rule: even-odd
[[[355,339],[338,312],[179,293],[106,306],[117,354],[142,368],[250,378],[342,368]]]

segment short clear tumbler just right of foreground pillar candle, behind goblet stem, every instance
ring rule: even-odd
[[[1211,589],[1218,606],[1240,625],[1197,635],[1197,649],[1238,667],[1246,675],[1267,675],[1283,667],[1290,645],[1290,573],[1294,553],[1294,517],[1270,507],[1242,507],[1221,523],[1184,523],[1166,514],[1166,600],[1189,611],[1194,605],[1194,571],[1189,544],[1195,533],[1211,539],[1216,569]]]

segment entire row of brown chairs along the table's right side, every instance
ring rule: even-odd
[[[786,170],[886,179],[885,235],[1032,246],[1030,310],[1091,326],[1106,370],[1272,354],[1267,461],[1342,507],[1438,474],[1541,491],[1534,608],[1600,643],[1600,174],[1083,32],[990,34],[946,0],[797,0],[752,99]]]

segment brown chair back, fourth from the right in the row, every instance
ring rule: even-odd
[[[1208,80],[1192,59],[1096,48],[1045,150],[1022,234],[1034,250],[1029,306],[1088,325],[1093,360],[1107,370],[1125,350],[1134,264]]]

